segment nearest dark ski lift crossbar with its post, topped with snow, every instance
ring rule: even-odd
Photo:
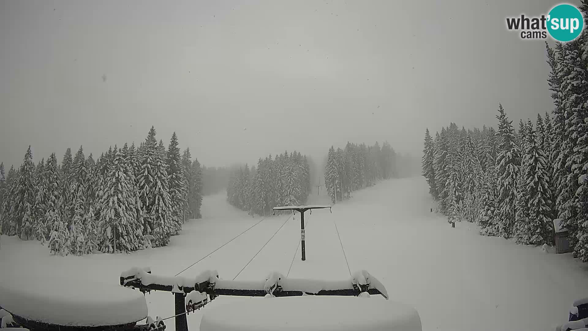
[[[218,296],[287,297],[287,296],[362,296],[380,294],[388,299],[386,288],[365,270],[348,280],[328,281],[289,279],[274,272],[258,281],[219,279],[216,271],[207,270],[196,277],[159,276],[149,268],[133,267],[121,273],[121,286],[142,293],[172,292],[175,296],[176,331],[188,331],[186,313],[199,310]]]

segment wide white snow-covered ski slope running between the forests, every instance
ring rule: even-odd
[[[310,197],[309,204],[325,203],[326,197]],[[365,269],[379,279],[390,300],[415,307],[424,331],[551,330],[567,319],[574,300],[588,296],[588,266],[570,254],[482,237],[470,223],[457,223],[452,229],[443,216],[429,212],[431,207],[427,184],[418,177],[383,181],[355,192],[350,200],[334,205],[332,213],[307,211],[307,260],[302,262],[298,215],[268,217],[218,249],[263,217],[236,210],[222,195],[205,197],[205,218],[189,221],[180,236],[160,249],[56,257],[36,241],[3,236],[0,282],[27,273],[39,282],[52,275],[117,284],[119,274],[132,266],[149,266],[154,274],[173,276],[215,249],[181,275],[216,269],[223,279],[239,274],[238,280],[260,280],[276,271],[294,278],[344,280],[349,277],[347,260],[352,273]],[[91,294],[99,289],[72,290]],[[151,316],[173,315],[171,293],[146,298]],[[235,300],[251,299],[219,297],[188,316],[190,329],[198,330],[207,308]],[[165,322],[173,330],[173,319]]]

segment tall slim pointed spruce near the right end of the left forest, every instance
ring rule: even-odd
[[[172,234],[178,234],[182,230],[183,206],[188,200],[186,190],[186,177],[182,167],[180,149],[178,148],[178,136],[174,132],[169,141],[166,157],[169,180],[169,198],[171,200],[171,217],[174,224]]]

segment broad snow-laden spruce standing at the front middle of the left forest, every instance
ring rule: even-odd
[[[103,236],[100,246],[105,253],[129,253],[142,246],[137,230],[139,224],[136,221],[134,174],[131,164],[125,160],[128,150],[117,150],[115,147],[115,151],[102,196],[103,210],[98,220],[98,229],[101,229],[99,233]]]

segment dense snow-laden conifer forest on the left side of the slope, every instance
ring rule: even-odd
[[[31,147],[5,176],[0,164],[0,229],[38,240],[54,254],[166,246],[187,219],[199,219],[202,167],[174,133],[166,148],[149,130],[139,146],[115,145],[96,159],[83,147],[33,163]]]

